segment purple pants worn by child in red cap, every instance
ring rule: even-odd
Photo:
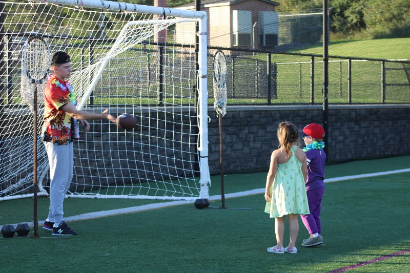
[[[324,193],[324,187],[316,188],[315,190],[307,191],[309,212],[308,215],[301,215],[304,226],[308,229],[309,234],[321,234],[322,228],[320,224],[320,208]]]

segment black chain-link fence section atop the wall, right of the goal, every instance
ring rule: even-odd
[[[320,104],[323,57],[313,54],[222,49],[228,60],[228,103]],[[212,75],[212,58],[209,58]],[[407,60],[329,57],[331,104],[409,103]],[[211,81],[211,80],[210,80]],[[212,97],[212,82],[209,82]]]

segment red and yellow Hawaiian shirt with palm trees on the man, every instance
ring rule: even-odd
[[[76,124],[76,121],[61,110],[69,102],[76,104],[72,87],[67,81],[51,75],[44,89],[43,141],[56,145],[65,145],[72,141],[71,124]]]

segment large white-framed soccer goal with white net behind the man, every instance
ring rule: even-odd
[[[44,3],[43,3],[44,2]],[[0,1],[0,200],[33,196],[33,88],[22,73],[32,36],[71,57],[77,108],[132,114],[137,125],[89,121],[74,143],[68,195],[208,198],[207,16],[101,1]],[[198,31],[199,30],[199,31]],[[43,124],[45,83],[36,85]],[[48,160],[37,134],[38,195]]]

